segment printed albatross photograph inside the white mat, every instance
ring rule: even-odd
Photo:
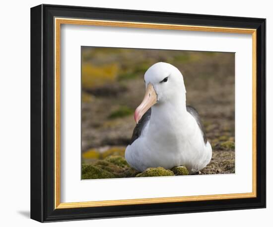
[[[235,53],[81,47],[81,179],[235,173]]]

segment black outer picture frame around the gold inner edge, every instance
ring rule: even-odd
[[[257,29],[257,197],[55,209],[54,18]],[[31,8],[31,219],[39,222],[266,207],[266,19],[42,4]]]

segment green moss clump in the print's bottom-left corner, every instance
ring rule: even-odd
[[[115,178],[116,175],[90,164],[82,164],[81,179],[105,179]]]

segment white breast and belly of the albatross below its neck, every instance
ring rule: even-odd
[[[196,120],[187,113],[183,117],[151,116],[141,136],[126,148],[125,158],[141,172],[149,167],[183,165],[192,174],[209,163],[211,154],[209,142],[204,143]]]

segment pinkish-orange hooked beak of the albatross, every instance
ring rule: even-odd
[[[157,95],[154,91],[152,84],[148,83],[144,98],[135,111],[136,123],[138,123],[138,121],[141,119],[143,114],[145,114],[147,110],[149,110],[154,104],[156,104],[156,102],[157,102]]]

